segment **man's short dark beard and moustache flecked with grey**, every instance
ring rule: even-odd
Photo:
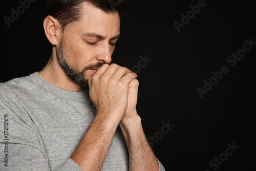
[[[93,63],[91,65],[88,65],[82,69],[81,72],[78,72],[72,67],[71,65],[68,64],[68,62],[65,60],[65,55],[63,54],[63,40],[62,38],[60,39],[60,45],[59,48],[56,50],[56,56],[59,62],[59,65],[62,67],[66,75],[73,81],[76,82],[83,87],[88,88],[88,77],[84,75],[84,72],[88,69],[98,69],[101,67],[104,63],[98,62],[98,63]]]

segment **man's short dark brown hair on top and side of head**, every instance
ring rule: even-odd
[[[64,31],[68,24],[80,19],[82,15],[80,4],[83,2],[89,2],[107,13],[118,12],[120,18],[129,5],[127,0],[47,0],[46,14],[56,18]]]

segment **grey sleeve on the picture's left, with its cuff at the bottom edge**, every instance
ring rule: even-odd
[[[0,85],[0,170],[51,170],[33,120]],[[70,158],[56,170],[82,169]]]

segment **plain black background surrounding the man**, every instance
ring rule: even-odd
[[[175,126],[153,151],[166,170],[214,170],[209,162],[239,146],[218,170],[255,169],[256,45],[236,66],[227,57],[256,41],[254,1],[206,0],[206,6],[178,33],[174,22],[199,1],[132,1],[121,21],[113,62],[129,69],[140,55],[152,60],[138,73],[138,113],[146,137]],[[18,1],[2,1],[2,18]],[[51,54],[42,23],[45,1],[31,3],[8,28],[2,19],[0,82],[40,71]],[[204,79],[227,66],[229,72],[200,98]],[[254,169],[253,169],[254,168]]]

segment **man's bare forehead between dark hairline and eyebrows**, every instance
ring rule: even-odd
[[[94,5],[81,3],[81,19],[70,24],[70,29],[77,32],[95,32],[106,37],[119,33],[120,17],[118,12],[106,13]]]

